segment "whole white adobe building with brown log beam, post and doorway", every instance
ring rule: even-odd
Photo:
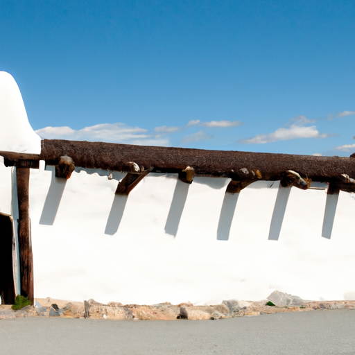
[[[355,159],[41,139],[0,72],[1,300],[355,299]]]

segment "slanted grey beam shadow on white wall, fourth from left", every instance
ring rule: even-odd
[[[230,239],[230,228],[232,227],[234,211],[236,210],[236,202],[238,202],[239,194],[239,192],[225,193],[225,198],[223,199],[222,209],[220,210],[218,221],[218,241],[227,241]]]

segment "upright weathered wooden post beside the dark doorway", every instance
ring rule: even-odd
[[[33,254],[31,243],[31,220],[29,214],[30,169],[16,169],[17,200],[19,204],[19,270],[21,295],[33,304]]]

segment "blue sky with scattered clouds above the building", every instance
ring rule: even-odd
[[[46,138],[355,152],[355,1],[0,0]]]

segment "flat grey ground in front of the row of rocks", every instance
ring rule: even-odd
[[[0,320],[2,354],[355,354],[355,311],[226,320]]]

